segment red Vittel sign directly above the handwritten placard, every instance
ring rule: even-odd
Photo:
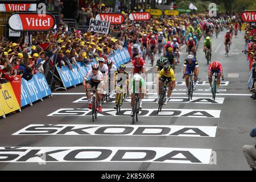
[[[122,24],[125,17],[121,13],[100,13],[97,14],[95,19],[110,22],[110,24]]]

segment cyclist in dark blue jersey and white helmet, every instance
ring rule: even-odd
[[[194,73],[194,85],[193,85],[193,90],[196,90],[196,82],[197,82],[197,76],[199,74],[199,65],[198,61],[194,58],[193,55],[188,55],[187,59],[184,60],[184,65],[183,65],[183,78],[185,78],[187,90],[188,90],[188,78],[191,74],[191,72]]]

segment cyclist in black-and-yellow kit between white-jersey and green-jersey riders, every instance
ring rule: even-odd
[[[121,64],[121,65],[119,65],[119,69],[117,71],[115,71],[115,73],[114,73],[114,85],[115,85],[115,91],[117,93],[115,95],[114,109],[117,109],[118,97],[119,97],[119,94],[122,92],[122,90],[128,91],[127,88],[129,86],[129,74],[125,71],[125,69],[126,69],[125,64]],[[124,88],[126,88],[126,89],[124,89]],[[126,94],[126,92],[125,92],[125,94]]]

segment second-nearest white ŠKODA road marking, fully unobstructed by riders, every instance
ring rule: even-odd
[[[181,125],[28,125],[13,135],[126,135],[215,137],[217,126]]]

